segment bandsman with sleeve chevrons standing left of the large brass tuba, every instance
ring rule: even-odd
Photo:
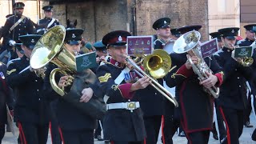
[[[30,55],[41,35],[23,35],[24,56],[10,63],[7,69],[7,82],[11,88],[18,89],[14,106],[14,122],[22,143],[46,144],[49,129],[49,102],[42,95],[43,79],[39,78],[30,67]]]

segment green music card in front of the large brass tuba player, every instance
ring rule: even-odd
[[[97,66],[96,52],[90,52],[86,54],[80,54],[75,57],[76,70],[82,72],[82,70],[90,69]]]

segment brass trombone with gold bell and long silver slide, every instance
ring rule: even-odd
[[[154,50],[154,53],[165,54],[166,51]],[[149,70],[150,74],[155,74],[155,75],[158,74],[158,76],[160,75],[160,77],[158,78],[162,78],[170,70],[170,66],[167,66],[171,64],[170,56],[169,54],[166,53],[166,58],[162,58],[164,56],[159,56],[158,54],[154,54],[154,53],[146,56],[143,62],[143,66],[147,70]],[[130,59],[129,56],[124,55],[124,57],[126,58],[126,62],[128,62],[132,66],[132,70],[134,70],[136,74],[138,74],[140,77],[150,78],[150,85],[153,86],[156,90],[158,90],[158,92],[161,93],[164,97],[166,97],[170,102],[173,102],[175,107],[178,107],[178,102],[176,101],[174,96],[170,94],[168,90],[166,90],[163,86],[161,86],[156,80],[154,80],[154,78],[151,78],[148,74],[146,74],[146,72],[143,71],[132,59]],[[169,60],[166,60],[168,58]],[[152,62],[150,63],[150,61]],[[167,67],[169,67],[169,69]],[[166,73],[166,74],[161,74],[161,73]]]

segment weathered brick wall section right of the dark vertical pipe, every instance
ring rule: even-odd
[[[154,34],[152,24],[155,20],[169,17],[172,28],[202,25],[202,40],[208,39],[207,0],[137,0],[136,8],[138,35]]]

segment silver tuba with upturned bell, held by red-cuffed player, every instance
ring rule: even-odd
[[[187,32],[186,34],[183,34],[180,38],[176,40],[174,43],[174,52],[177,54],[182,53],[188,53],[187,59],[191,63],[192,68],[194,70],[194,73],[198,74],[198,79],[200,81],[208,78],[206,75],[206,71],[209,73],[213,73],[212,70],[210,70],[209,66],[207,66],[206,62],[203,60],[201,56],[201,52],[198,47],[198,42],[201,38],[201,34],[196,31],[192,30]],[[198,64],[194,64],[191,60],[192,56],[196,56],[198,58]],[[204,90],[212,95],[214,98],[218,98],[219,96],[219,88],[218,87],[211,87],[210,89],[206,89],[204,87]]]

